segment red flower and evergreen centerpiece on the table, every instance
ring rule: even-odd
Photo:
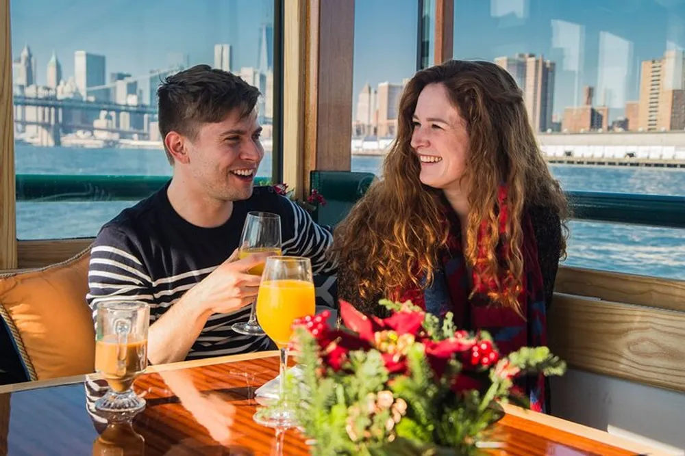
[[[297,320],[291,339],[301,376],[286,375],[285,400],[295,405],[314,455],[468,455],[488,438],[515,397],[514,379],[562,375],[547,347],[501,356],[486,332],[460,331],[409,301],[369,317],[344,301],[345,327],[328,313]],[[519,398],[521,399],[521,398]]]

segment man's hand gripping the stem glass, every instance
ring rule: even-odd
[[[259,252],[238,260],[236,250],[188,293],[192,293],[193,299],[203,303],[203,307],[212,314],[235,312],[251,304],[262,281],[260,276],[253,276],[247,271],[264,263],[271,255],[271,252]]]

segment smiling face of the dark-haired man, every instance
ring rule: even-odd
[[[195,139],[186,140],[182,165],[193,187],[215,200],[247,200],[264,158],[261,133],[256,109],[242,119],[234,110],[221,122],[201,124]]]

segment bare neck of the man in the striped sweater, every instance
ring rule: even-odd
[[[221,201],[203,195],[181,176],[173,176],[166,190],[171,207],[186,222],[201,228],[216,228],[225,224],[233,213],[232,201]]]

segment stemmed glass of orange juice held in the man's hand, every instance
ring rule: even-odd
[[[242,226],[238,256],[242,259],[260,252],[281,254],[281,217],[277,214],[255,211],[247,213],[245,225]],[[247,271],[255,276],[261,276],[262,272],[264,272],[263,263]],[[247,322],[234,323],[232,329],[246,336],[264,336],[264,331],[257,323],[254,301],[250,307],[250,319]]]

